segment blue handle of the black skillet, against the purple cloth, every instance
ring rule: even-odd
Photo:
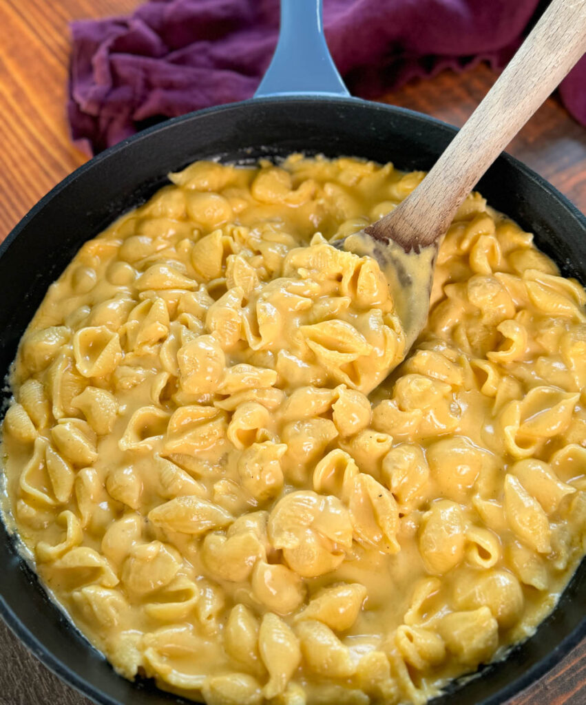
[[[319,93],[350,95],[324,37],[322,0],[281,0],[281,31],[255,98]]]

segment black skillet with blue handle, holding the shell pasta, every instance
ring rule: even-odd
[[[287,90],[286,90],[287,89]],[[455,128],[412,111],[348,97],[321,28],[321,0],[283,0],[281,38],[257,97],[176,118],[116,145],[56,186],[0,247],[0,374],[20,336],[85,240],[195,159],[254,161],[303,150],[428,169]],[[479,183],[492,206],[535,233],[566,276],[586,283],[586,219],[549,183],[506,154]],[[0,614],[37,658],[101,705],[187,704],[152,682],[114,673],[49,601],[0,525]],[[586,635],[586,562],[554,613],[506,661],[454,682],[434,705],[496,705],[547,672]]]

